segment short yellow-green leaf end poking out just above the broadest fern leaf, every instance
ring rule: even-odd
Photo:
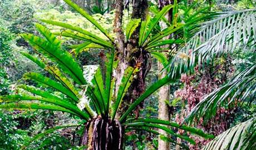
[[[47,28],[43,27],[41,24],[35,24],[37,31],[39,31],[48,42],[50,42],[53,46],[57,47],[58,49],[61,48],[61,41],[58,40]]]

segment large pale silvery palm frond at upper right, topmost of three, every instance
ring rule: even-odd
[[[185,44],[180,47],[169,66],[185,64],[186,71],[194,68],[195,61],[198,61],[200,67],[202,62],[209,62],[216,55],[232,53],[236,49],[253,49],[256,43],[255,12],[256,9],[216,13],[210,21],[192,25],[187,31],[189,34],[184,37]],[[179,57],[180,53],[186,54],[185,61]]]

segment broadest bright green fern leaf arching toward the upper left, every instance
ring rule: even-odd
[[[33,46],[38,52],[45,54],[48,58],[58,63],[58,66],[78,83],[86,84],[85,79],[82,76],[82,69],[73,59],[70,53],[65,50],[58,49],[48,41],[44,39],[33,36],[32,34],[21,34],[21,36],[26,39],[31,46]]]

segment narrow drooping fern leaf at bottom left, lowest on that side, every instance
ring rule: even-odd
[[[37,139],[45,137],[46,134],[52,133],[52,132],[56,131],[57,129],[68,128],[68,127],[77,127],[77,126],[79,126],[79,125],[58,126],[58,127],[52,128],[52,129],[48,129],[47,131],[37,134],[35,137],[33,137],[31,140],[29,140],[28,143],[26,143],[26,144],[24,144],[24,146],[22,146],[22,149],[26,149],[29,146],[29,144],[31,144],[33,141],[36,141]]]

